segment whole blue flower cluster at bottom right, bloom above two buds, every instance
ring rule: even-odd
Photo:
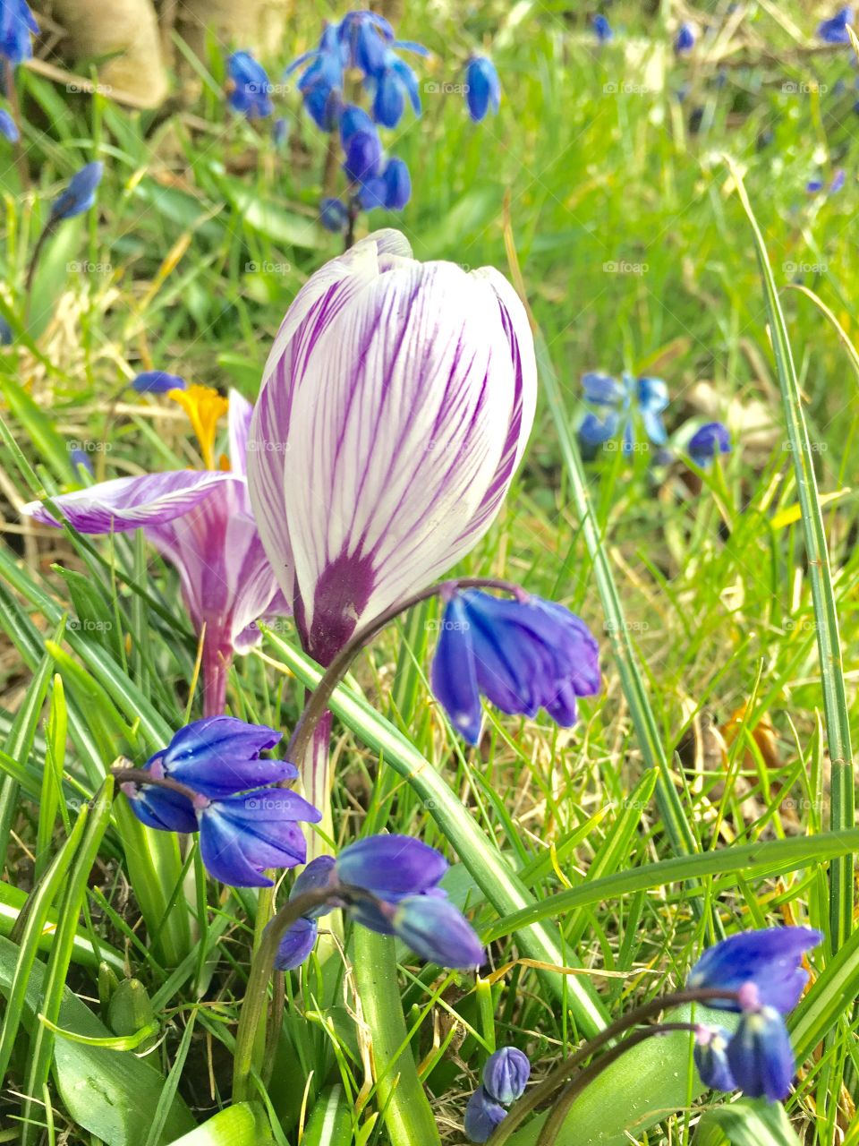
[[[695,1031],[695,1065],[708,1086],[771,1102],[787,1098],[796,1063],[782,1017],[809,980],[803,953],[822,937],[809,927],[775,927],[732,935],[704,951],[686,986],[735,991],[736,1002],[708,1005],[741,1017],[733,1034],[704,1025]]]

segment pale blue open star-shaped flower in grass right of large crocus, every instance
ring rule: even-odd
[[[668,407],[668,386],[662,378],[647,375],[633,378],[625,374],[618,382],[607,374],[590,371],[582,376],[585,400],[607,411],[598,418],[585,416],[578,433],[585,453],[593,456],[597,447],[614,438],[623,426],[623,452],[635,448],[637,419],[654,446],[664,446],[668,433],[662,414]],[[582,431],[584,426],[584,433]]]

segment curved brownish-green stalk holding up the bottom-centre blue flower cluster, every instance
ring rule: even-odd
[[[266,1045],[266,1002],[268,983],[277,956],[281,939],[297,919],[314,908],[326,903],[331,896],[328,888],[305,892],[285,903],[271,923],[262,932],[260,944],[251,959],[247,987],[238,1015],[236,1053],[233,1059],[233,1101],[246,1102],[253,1098],[252,1074],[257,1054],[254,1047]]]

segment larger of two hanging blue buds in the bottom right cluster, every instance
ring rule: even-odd
[[[788,1097],[796,1062],[785,1020],[774,1007],[743,1014],[727,1044],[727,1062],[736,1086],[749,1098],[778,1102]]]

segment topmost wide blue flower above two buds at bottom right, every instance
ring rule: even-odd
[[[757,991],[755,1004],[787,1014],[799,1002],[809,974],[803,953],[823,936],[810,927],[767,927],[741,932],[708,948],[689,972],[691,989]],[[748,1006],[748,1003],[746,1004]],[[743,1002],[716,999],[708,1006],[741,1012]]]

